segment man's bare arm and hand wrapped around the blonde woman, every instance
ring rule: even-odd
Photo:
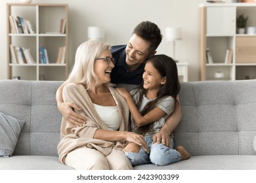
[[[77,114],[74,112],[73,108],[77,110],[81,110],[81,108],[76,105],[75,103],[64,103],[63,97],[62,97],[62,91],[64,86],[68,83],[68,80],[66,80],[56,91],[56,102],[57,107],[62,116],[74,127],[75,126],[81,126],[81,124],[85,123],[85,118],[81,116],[80,114]]]

